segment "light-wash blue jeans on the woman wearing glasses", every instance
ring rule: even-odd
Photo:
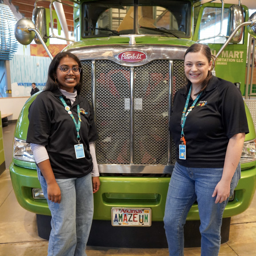
[[[48,200],[46,181],[38,172],[52,214],[48,256],[86,256],[93,217],[92,175],[56,179],[61,191],[58,204]]]

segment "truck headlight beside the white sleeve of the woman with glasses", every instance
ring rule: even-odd
[[[13,158],[35,163],[35,158],[30,148],[30,144],[25,140],[20,140],[15,137],[13,142]]]

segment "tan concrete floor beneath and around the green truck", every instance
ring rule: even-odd
[[[3,128],[5,161],[12,160],[15,124]],[[20,207],[12,189],[9,170],[0,175],[0,256],[46,256],[48,241],[37,234],[36,215]],[[168,256],[168,249],[87,248],[88,256]],[[229,241],[220,256],[256,256],[256,195],[251,206],[232,217]],[[185,248],[185,256],[200,256],[200,248]]]

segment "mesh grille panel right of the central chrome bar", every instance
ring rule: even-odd
[[[155,60],[134,73],[134,164],[167,164],[169,61]]]

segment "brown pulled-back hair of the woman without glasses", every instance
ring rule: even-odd
[[[195,95],[198,95],[200,92],[203,92],[204,89],[206,88],[207,84],[209,83],[209,81],[212,79],[212,69],[215,66],[215,61],[214,61],[214,56],[211,53],[211,49],[207,44],[192,44],[187,51],[184,54],[184,60],[185,60],[185,56],[189,53],[189,52],[202,52],[204,54],[204,56],[207,58],[208,62],[210,63],[212,60],[212,68],[211,70],[208,70],[208,74],[207,77],[204,79],[204,81],[201,84],[201,89],[198,93],[196,93]],[[191,83],[190,80],[188,80],[188,78],[186,77],[187,83]]]

